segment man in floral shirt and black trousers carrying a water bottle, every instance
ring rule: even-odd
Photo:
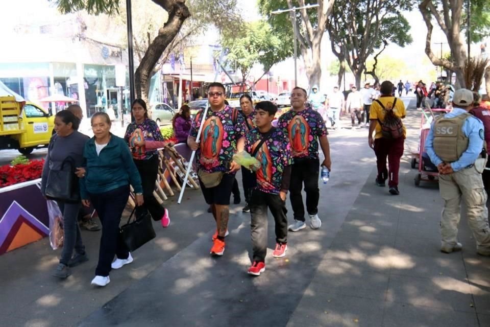
[[[291,169],[289,199],[295,222],[289,225],[290,231],[298,231],[306,227],[305,209],[301,190],[303,183],[306,192],[306,211],[310,216],[310,227],[318,229],[322,221],[318,218],[318,175],[320,173],[320,158],[318,157],[318,141],[322,147],[325,160],[322,166],[330,170],[330,146],[328,132],[322,116],[313,109],[305,108],[306,90],[295,87],[291,92],[291,110],[280,116],[277,126],[287,133],[294,163]]]

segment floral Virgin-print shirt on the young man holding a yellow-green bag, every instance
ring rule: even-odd
[[[247,133],[245,150],[252,154],[263,138],[258,128]],[[287,134],[276,128],[262,143],[261,148],[255,154],[261,167],[255,172],[257,185],[255,189],[271,194],[279,194],[281,191],[282,174],[286,166],[292,165],[291,145]]]

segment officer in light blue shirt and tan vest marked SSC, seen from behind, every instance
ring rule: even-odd
[[[479,160],[483,149],[483,124],[468,112],[473,108],[470,90],[455,91],[452,103],[453,110],[432,124],[425,143],[430,160],[439,170],[439,190],[444,199],[440,250],[451,253],[462,249],[457,242],[462,198],[477,252],[490,256],[487,195],[483,190],[483,167]]]

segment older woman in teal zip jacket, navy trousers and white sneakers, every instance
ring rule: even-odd
[[[86,167],[79,172],[80,194],[83,205],[92,202],[102,222],[99,263],[91,284],[106,286],[111,269],[133,262],[119,237],[119,221],[128,202],[129,185],[134,188],[136,205],[143,204],[143,189],[126,142],[109,132],[109,115],[96,112],[91,123],[94,137],[85,144]],[[114,254],[117,258],[112,262]]]

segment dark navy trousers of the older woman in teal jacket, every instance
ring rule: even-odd
[[[118,259],[128,259],[129,251],[120,237],[119,221],[129,198],[129,185],[105,193],[90,194],[90,201],[102,223],[99,263],[95,275],[109,276],[114,254]]]

